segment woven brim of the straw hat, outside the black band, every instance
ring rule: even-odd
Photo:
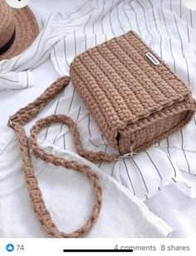
[[[13,13],[15,18],[15,40],[7,52],[0,55],[0,61],[11,59],[23,52],[32,44],[39,33],[36,17],[29,7],[14,9]]]

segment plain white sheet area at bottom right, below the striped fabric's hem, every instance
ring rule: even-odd
[[[196,185],[195,182],[194,185]],[[147,200],[145,204],[174,229],[172,237],[189,238],[194,234],[196,199],[189,199],[186,195],[179,193],[174,186],[169,185]]]

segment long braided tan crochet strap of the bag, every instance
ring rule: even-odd
[[[59,94],[70,82],[70,77],[63,76],[56,82],[54,82],[50,87],[47,88],[41,96],[39,96],[35,101],[23,107],[17,113],[10,117],[8,126],[12,127],[16,131],[17,140],[22,154],[22,166],[24,171],[25,180],[27,182],[27,190],[32,199],[32,205],[35,213],[37,214],[40,223],[43,228],[46,229],[47,233],[54,238],[78,238],[86,235],[93,224],[95,223],[98,215],[100,213],[101,200],[102,200],[102,190],[100,186],[100,180],[98,176],[91,170],[87,165],[83,165],[76,160],[66,160],[65,158],[52,155],[51,153],[43,150],[37,144],[38,133],[46,126],[52,123],[62,123],[69,127],[73,135],[73,140],[76,145],[76,149],[81,156],[86,157],[86,159],[96,162],[98,160],[114,160],[116,155],[108,155],[105,152],[91,152],[85,150],[81,145],[81,140],[79,133],[76,128],[76,124],[71,120],[69,116],[65,115],[52,115],[47,116],[36,122],[35,126],[31,129],[30,144],[27,139],[26,132],[23,128],[28,121],[31,121],[37,114],[42,111],[42,108],[47,105],[47,102]],[[47,206],[42,198],[42,191],[39,188],[38,180],[33,170],[31,155],[30,155],[30,145],[32,145],[32,150],[34,154],[46,160],[52,165],[62,166],[67,169],[76,170],[85,174],[88,179],[91,180],[94,186],[95,192],[95,202],[91,212],[91,216],[86,220],[86,224],[80,229],[67,234],[65,232],[59,231],[56,224],[53,223],[51,215],[47,210]]]

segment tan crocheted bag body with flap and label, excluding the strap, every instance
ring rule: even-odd
[[[70,74],[106,140],[122,154],[163,140],[196,110],[189,86],[132,31],[75,57]]]

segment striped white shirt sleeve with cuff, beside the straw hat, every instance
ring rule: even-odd
[[[91,12],[92,9],[92,2],[86,2],[80,9],[81,16]],[[31,47],[28,47],[24,52],[17,57],[13,57],[11,60],[0,62],[0,89],[21,89],[34,85],[31,71],[26,70],[45,62],[61,38],[66,37],[73,30],[73,25],[70,25],[71,15],[69,16],[70,18],[68,19],[64,18],[61,13],[50,13],[45,19],[42,19],[44,27],[41,24],[42,31],[35,41],[32,42]],[[85,18],[86,15],[83,18],[81,17],[81,20],[84,19],[85,21]],[[65,20],[67,20],[67,25],[63,25]],[[81,25],[74,24],[74,27],[81,27]],[[61,71],[61,75],[63,74],[65,74],[65,71]]]

